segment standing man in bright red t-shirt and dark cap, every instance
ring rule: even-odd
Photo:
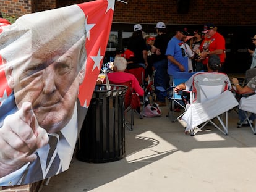
[[[202,60],[203,65],[207,65],[209,56],[218,55],[221,67],[223,67],[226,58],[224,37],[217,32],[217,27],[212,23],[204,25],[202,32],[205,33],[205,39],[200,46],[200,57],[198,59]]]

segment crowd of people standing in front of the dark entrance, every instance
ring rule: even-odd
[[[134,25],[133,30],[126,49],[129,58],[125,57],[127,53],[118,54],[116,57],[127,59],[128,69],[135,67],[145,69],[145,83],[149,84],[151,81],[153,84],[155,93],[153,102],[158,103],[160,107],[166,106],[166,96],[160,90],[167,90],[173,84],[175,72],[212,71],[208,66],[211,56],[215,61],[218,57],[220,61],[218,69],[214,71],[224,72],[226,42],[213,23],[207,23],[202,29],[198,28],[191,33],[186,27],[177,27],[173,36],[163,22],[156,23],[155,35],[145,35],[139,23]],[[256,35],[252,38],[252,43],[256,46]],[[248,49],[248,52],[252,56],[251,68],[254,68],[255,50]],[[237,84],[234,79],[233,82],[234,85]]]

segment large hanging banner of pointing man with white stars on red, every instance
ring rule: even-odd
[[[98,0],[0,23],[0,186],[69,168],[113,12]]]

